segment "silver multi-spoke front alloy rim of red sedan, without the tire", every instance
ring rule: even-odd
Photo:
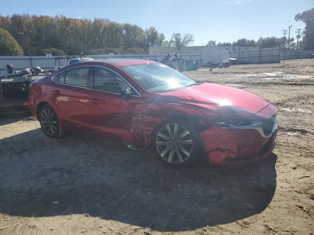
[[[156,147],[160,157],[168,163],[183,163],[193,150],[192,135],[182,125],[169,123],[159,129]]]

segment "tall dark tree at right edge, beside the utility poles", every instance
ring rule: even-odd
[[[305,29],[303,30],[303,40],[305,40],[304,49],[314,49],[314,8],[295,15],[295,21],[303,21]]]

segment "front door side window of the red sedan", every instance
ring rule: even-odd
[[[95,67],[94,89],[117,94],[133,94],[136,92],[118,74],[105,68]]]

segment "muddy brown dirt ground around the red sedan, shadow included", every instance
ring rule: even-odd
[[[314,60],[186,74],[276,103],[274,153],[233,169],[173,170],[127,143],[52,140],[31,118],[1,118],[0,235],[314,235]]]

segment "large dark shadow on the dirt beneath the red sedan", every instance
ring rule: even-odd
[[[53,140],[36,129],[0,140],[0,212],[85,214],[156,231],[226,224],[267,207],[276,158],[174,170],[131,144],[83,134]]]

